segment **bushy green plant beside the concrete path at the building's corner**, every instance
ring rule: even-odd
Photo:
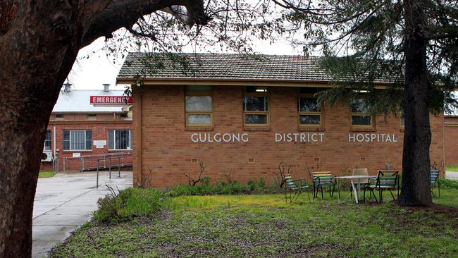
[[[118,194],[107,195],[97,201],[99,209],[94,219],[101,223],[115,223],[135,216],[152,216],[161,209],[161,192],[155,189],[128,188]]]

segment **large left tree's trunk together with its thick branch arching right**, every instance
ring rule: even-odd
[[[30,257],[32,211],[49,116],[78,50],[149,13],[202,0],[0,0],[0,257]]]

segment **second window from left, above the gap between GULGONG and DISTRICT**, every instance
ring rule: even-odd
[[[267,87],[245,87],[243,96],[243,125],[266,126],[268,124]]]

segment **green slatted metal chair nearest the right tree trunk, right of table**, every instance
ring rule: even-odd
[[[397,190],[397,197],[399,197],[399,171],[395,170],[379,170],[375,184],[369,184],[364,187],[363,202],[366,202],[366,190],[371,191],[370,197],[376,200],[377,203],[383,202],[383,190],[390,191],[391,197],[395,200],[395,195],[392,190]],[[374,190],[378,190],[378,200]]]

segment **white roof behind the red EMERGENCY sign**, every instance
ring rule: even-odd
[[[121,113],[122,106],[94,106],[91,96],[123,96],[123,90],[61,90],[53,113]]]

